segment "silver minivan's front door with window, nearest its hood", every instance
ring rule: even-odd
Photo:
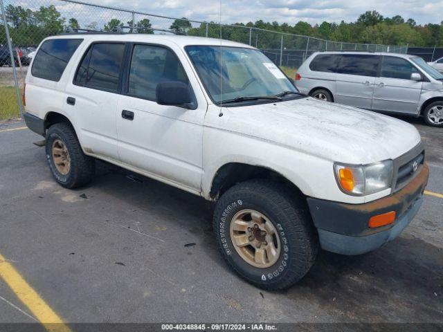
[[[412,73],[420,72],[408,60],[383,56],[380,77],[375,80],[372,109],[416,114],[423,82],[411,80]]]

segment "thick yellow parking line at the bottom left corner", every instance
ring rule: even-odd
[[[63,320],[51,309],[44,299],[21,277],[19,272],[0,254],[0,277],[17,295],[31,313],[48,331],[70,332]]]

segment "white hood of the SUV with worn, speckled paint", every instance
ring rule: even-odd
[[[421,140],[404,121],[314,98],[228,107],[221,119],[220,129],[342,163],[397,158]]]

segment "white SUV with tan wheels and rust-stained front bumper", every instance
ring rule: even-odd
[[[221,254],[266,289],[300,280],[318,246],[359,255],[394,239],[428,181],[413,126],[302,95],[243,44],[51,37],[25,91],[55,181],[89,183],[99,158],[214,201]]]

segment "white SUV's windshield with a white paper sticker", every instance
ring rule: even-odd
[[[186,51],[215,104],[262,99],[297,89],[260,50],[226,46],[188,46]],[[221,57],[220,57],[221,52]],[[220,65],[221,59],[221,65]],[[280,99],[280,98],[276,98]]]

